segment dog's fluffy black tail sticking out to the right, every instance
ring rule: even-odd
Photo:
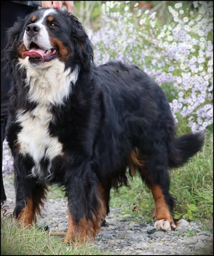
[[[186,133],[175,139],[175,150],[169,147],[169,167],[179,167],[194,156],[203,146],[204,132]]]

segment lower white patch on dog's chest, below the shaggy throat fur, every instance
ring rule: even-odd
[[[56,137],[51,137],[48,126],[52,114],[44,106],[38,106],[32,111],[19,113],[17,121],[22,130],[18,134],[20,153],[29,154],[36,163],[45,157],[52,159],[62,154],[62,145]]]

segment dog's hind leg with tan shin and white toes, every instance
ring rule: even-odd
[[[174,198],[169,194],[169,175],[167,172],[167,158],[164,156],[164,147],[152,154],[143,154],[135,149],[131,153],[132,165],[139,170],[142,180],[147,183],[154,198],[155,228],[173,230],[176,222],[171,211],[174,207]]]

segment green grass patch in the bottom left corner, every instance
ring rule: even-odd
[[[17,221],[1,221],[1,255],[103,255],[95,245],[68,245],[59,237],[52,237],[36,226],[19,228]],[[110,255],[110,253],[106,253]]]

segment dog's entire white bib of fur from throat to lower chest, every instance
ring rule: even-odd
[[[18,143],[20,153],[29,154],[38,170],[42,159],[51,162],[55,156],[62,155],[62,144],[48,131],[48,126],[53,121],[49,109],[52,105],[64,104],[64,100],[71,93],[72,83],[75,84],[78,77],[78,68],[70,73],[68,69],[64,71],[63,62],[59,60],[56,62],[54,66],[57,68],[25,67],[26,86],[29,86],[27,97],[29,101],[36,102],[37,106],[29,111],[19,110],[17,122],[21,124],[22,129],[18,134]]]

